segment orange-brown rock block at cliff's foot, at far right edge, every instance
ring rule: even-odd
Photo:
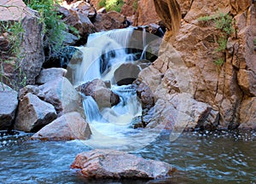
[[[256,129],[256,97],[242,101],[239,129]]]

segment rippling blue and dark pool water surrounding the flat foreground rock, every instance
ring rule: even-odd
[[[143,158],[165,161],[177,172],[165,180],[148,183],[253,183],[256,181],[254,132],[183,133],[169,141],[163,132],[147,147],[133,152]],[[79,152],[89,151],[83,141],[30,141],[19,132],[0,137],[0,181],[3,183],[131,183],[85,180],[70,169]],[[9,175],[12,175],[11,177]],[[146,181],[132,181],[146,183]]]

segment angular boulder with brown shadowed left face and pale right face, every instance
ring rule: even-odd
[[[36,132],[57,117],[55,107],[28,93],[20,101],[15,129]]]

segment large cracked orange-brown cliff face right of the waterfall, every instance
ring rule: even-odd
[[[151,89],[155,101],[170,101],[173,94],[187,93],[195,101],[210,106],[215,114],[212,117],[219,112],[218,128],[236,129],[240,124],[241,128],[255,127],[255,4],[248,0],[242,3],[177,0],[179,8],[173,9],[180,9],[183,16],[177,32],[180,21],[172,20],[172,11],[168,13],[166,9],[170,6],[164,1],[154,3],[158,3],[156,11],[168,29],[164,37],[166,42],[160,46],[158,60],[144,69],[139,79]],[[160,11],[163,9],[166,11]],[[231,12],[236,20],[233,26],[237,34],[230,34],[223,53],[216,52],[222,32],[215,28],[213,21],[198,20],[219,11]],[[224,58],[224,63],[217,66],[214,60],[220,57]]]

